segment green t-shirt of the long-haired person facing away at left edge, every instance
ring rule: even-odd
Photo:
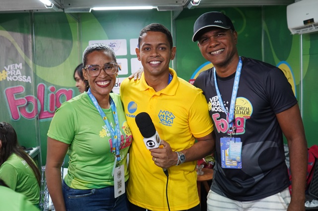
[[[12,154],[0,166],[0,178],[15,192],[21,193],[33,204],[39,204],[40,186],[27,162]]]

